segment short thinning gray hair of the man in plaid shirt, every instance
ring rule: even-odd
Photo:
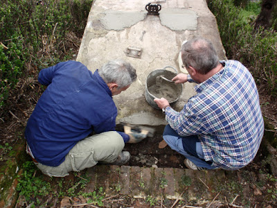
[[[186,68],[193,67],[206,74],[219,63],[213,44],[202,37],[189,40],[181,46],[181,59]]]

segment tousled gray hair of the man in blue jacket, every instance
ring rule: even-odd
[[[105,83],[116,83],[119,89],[131,85],[136,80],[136,69],[123,60],[112,60],[98,72]]]

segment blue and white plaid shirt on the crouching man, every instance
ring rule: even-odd
[[[251,73],[235,60],[222,64],[224,69],[195,86],[197,94],[181,112],[166,108],[166,121],[182,137],[198,135],[213,166],[235,170],[256,156],[264,121]]]

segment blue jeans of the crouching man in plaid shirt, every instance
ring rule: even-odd
[[[215,166],[211,166],[211,161],[204,160],[202,146],[196,135],[181,137],[170,127],[170,125],[166,125],[166,128],[163,131],[163,139],[172,150],[184,155],[196,166],[207,169],[215,168]]]

